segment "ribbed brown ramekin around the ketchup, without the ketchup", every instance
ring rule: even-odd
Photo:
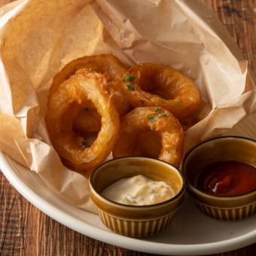
[[[184,157],[182,173],[187,182],[188,194],[206,215],[221,220],[240,220],[255,212],[256,189],[223,196],[206,193],[197,186],[197,178],[206,166],[227,161],[256,166],[256,141],[239,136],[225,136],[203,142]]]

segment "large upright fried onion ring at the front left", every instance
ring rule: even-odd
[[[78,105],[93,102],[101,116],[101,130],[90,147],[79,145],[72,130]],[[67,114],[69,112],[69,114]],[[104,75],[80,69],[52,93],[46,122],[50,139],[64,162],[88,176],[111,153],[119,130],[119,115],[112,102]]]

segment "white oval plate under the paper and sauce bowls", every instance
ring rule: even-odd
[[[229,134],[256,139],[255,128],[254,115]],[[203,215],[188,196],[163,233],[147,239],[119,236],[105,228],[97,215],[62,200],[38,175],[2,153],[0,169],[20,194],[42,212],[73,230],[112,245],[156,254],[199,255],[231,251],[256,242],[256,214],[243,221],[218,221]]]

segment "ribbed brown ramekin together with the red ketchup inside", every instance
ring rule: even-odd
[[[187,192],[212,218],[241,220],[256,210],[256,141],[239,136],[209,139],[184,157]]]

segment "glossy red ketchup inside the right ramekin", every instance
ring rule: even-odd
[[[256,168],[248,163],[211,163],[197,175],[195,187],[215,196],[237,196],[256,189]]]

